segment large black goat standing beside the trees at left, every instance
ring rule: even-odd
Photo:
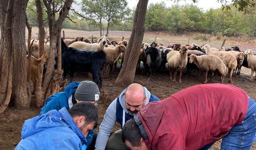
[[[103,50],[78,50],[68,47],[61,40],[61,52],[63,62],[63,80],[66,79],[68,71],[70,71],[70,81],[74,77],[74,72],[91,72],[92,81],[99,88],[102,86],[102,70],[106,63],[106,53]]]

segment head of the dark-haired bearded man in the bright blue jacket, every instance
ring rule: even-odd
[[[74,104],[74,106],[70,108],[68,112],[85,137],[87,136],[88,132],[96,128],[98,124],[97,107],[90,102],[80,102]]]

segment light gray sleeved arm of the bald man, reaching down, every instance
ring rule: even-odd
[[[108,106],[103,121],[100,124],[95,150],[105,150],[110,132],[116,123],[116,99]]]

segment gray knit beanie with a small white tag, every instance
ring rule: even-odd
[[[76,88],[75,98],[81,101],[98,101],[100,91],[96,83],[92,81],[82,81]]]

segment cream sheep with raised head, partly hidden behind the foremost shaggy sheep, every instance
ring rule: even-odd
[[[206,50],[206,54],[218,56],[224,62],[224,64],[226,65],[226,67],[228,68],[229,73],[230,73],[230,78],[229,78],[228,82],[232,82],[232,74],[235,71],[236,66],[237,66],[236,57],[233,54],[231,54],[230,52],[212,51],[209,44],[204,44],[203,47]]]

